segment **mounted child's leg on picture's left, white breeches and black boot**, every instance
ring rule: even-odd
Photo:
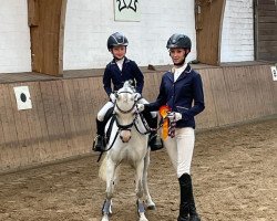
[[[104,134],[105,134],[105,115],[106,112],[113,107],[112,102],[107,102],[99,112],[98,117],[96,117],[96,143],[94,146],[95,151],[101,151],[104,149],[105,146],[105,139],[104,139]]]

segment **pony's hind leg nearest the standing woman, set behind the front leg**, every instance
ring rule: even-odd
[[[147,151],[147,155],[144,158],[144,169],[143,169],[143,190],[144,194],[146,196],[146,207],[148,210],[155,210],[156,206],[153,202],[150,190],[148,190],[148,183],[147,183],[147,170],[150,166],[150,150]]]

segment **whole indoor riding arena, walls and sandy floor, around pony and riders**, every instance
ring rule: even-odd
[[[119,14],[126,10],[135,14]],[[186,61],[205,95],[192,162],[201,220],[277,220],[276,0],[0,0],[0,221],[102,219],[104,157],[98,162],[92,144],[116,31],[148,102],[172,67],[167,39],[192,39]],[[179,186],[166,149],[150,158],[156,208],[145,215],[176,221]],[[134,180],[122,165],[111,221],[138,220]]]

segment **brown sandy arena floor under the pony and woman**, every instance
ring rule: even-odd
[[[276,128],[267,118],[197,134],[194,192],[204,221],[276,219]],[[0,220],[99,221],[105,183],[98,156],[0,177]],[[148,187],[156,210],[151,221],[175,221],[178,183],[164,150],[151,152]],[[126,167],[115,191],[112,219],[137,220],[134,172]]]

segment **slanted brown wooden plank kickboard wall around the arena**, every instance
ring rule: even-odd
[[[277,114],[277,82],[269,65],[197,70],[206,109],[197,128]],[[145,73],[144,96],[154,101],[162,72]],[[18,110],[13,87],[29,86],[32,109]],[[95,116],[106,102],[102,77],[0,84],[0,172],[91,151]]]

